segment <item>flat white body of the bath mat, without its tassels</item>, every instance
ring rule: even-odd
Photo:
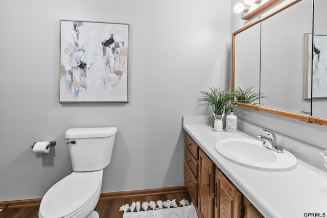
[[[198,218],[193,204],[139,212],[124,212],[123,218]]]

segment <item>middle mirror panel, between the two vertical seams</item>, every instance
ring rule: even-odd
[[[312,1],[303,0],[261,22],[260,106],[294,113],[311,113],[309,67],[305,36],[312,33]],[[305,52],[306,51],[306,52]],[[311,65],[311,64],[310,64]],[[308,87],[309,86],[309,87]],[[309,92],[310,93],[310,92]]]

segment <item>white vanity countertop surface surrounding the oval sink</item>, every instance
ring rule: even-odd
[[[205,124],[184,124],[183,129],[266,218],[327,217],[326,172],[299,159],[297,167],[286,172],[247,168],[224,159],[215,144],[224,138],[253,136],[240,131],[215,132],[212,125]]]

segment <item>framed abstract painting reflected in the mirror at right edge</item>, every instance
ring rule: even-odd
[[[313,54],[313,55],[312,55]],[[327,36],[305,34],[305,89],[303,99],[327,98]]]

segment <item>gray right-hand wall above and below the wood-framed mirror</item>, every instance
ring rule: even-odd
[[[231,1],[231,10],[234,5],[242,2],[242,0],[232,0]],[[271,9],[259,14],[264,15],[275,9],[276,7],[286,4],[288,0],[282,0],[274,5]],[[240,14],[231,13],[231,33],[237,31],[243,26],[247,25],[249,22],[253,21],[257,17],[252,18],[251,20],[241,20]],[[290,83],[292,84],[292,83]],[[278,116],[270,113],[259,112],[251,110],[251,113],[244,114],[240,111],[237,113],[239,118],[246,120],[247,122],[265,127],[272,131],[296,138],[298,140],[313,144],[316,147],[326,149],[327,143],[325,142],[325,137],[327,135],[327,126],[320,126],[317,124],[308,124],[306,122]],[[278,139],[277,139],[278,142]]]

